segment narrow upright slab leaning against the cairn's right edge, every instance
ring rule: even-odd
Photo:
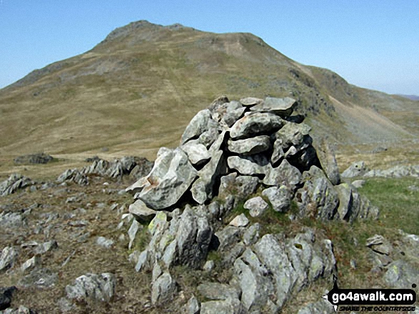
[[[326,177],[328,177],[333,185],[340,184],[338,163],[336,162],[335,150],[332,145],[322,138],[319,141],[319,145],[315,145],[315,150]]]

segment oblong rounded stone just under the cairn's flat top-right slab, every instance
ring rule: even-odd
[[[257,135],[271,134],[284,125],[284,120],[272,113],[255,112],[245,115],[231,127],[230,136],[242,140]]]

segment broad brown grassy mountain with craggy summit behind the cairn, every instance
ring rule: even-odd
[[[291,95],[315,135],[343,144],[419,133],[417,103],[304,66],[251,33],[137,21],[1,89],[0,156],[108,147],[154,158],[158,147],[176,146],[191,117],[219,95]]]

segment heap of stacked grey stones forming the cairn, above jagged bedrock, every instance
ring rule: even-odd
[[[243,197],[261,186],[278,211],[287,211],[294,199],[300,216],[346,221],[375,216],[376,209],[353,187],[339,184],[328,144],[320,143],[317,153],[311,127],[293,122],[299,120],[291,116],[295,106],[292,98],[214,100],[193,117],[181,145],[162,147],[150,174],[126,189],[136,199],[131,213],[149,221],[157,211],[185,202],[208,204],[246,185]]]

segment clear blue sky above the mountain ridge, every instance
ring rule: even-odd
[[[141,19],[250,32],[349,83],[419,95],[418,0],[0,0],[0,88]]]

